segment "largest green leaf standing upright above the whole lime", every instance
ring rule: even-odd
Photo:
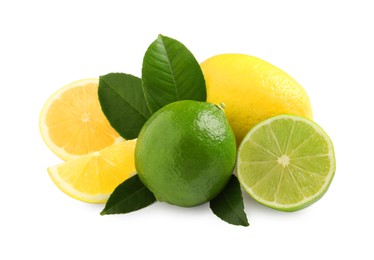
[[[158,36],[144,55],[142,82],[152,113],[178,100],[206,101],[199,63],[182,43],[163,35]]]

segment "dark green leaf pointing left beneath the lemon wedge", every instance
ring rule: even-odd
[[[117,186],[100,215],[129,213],[145,208],[155,200],[153,193],[136,174]]]

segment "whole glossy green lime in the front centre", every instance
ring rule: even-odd
[[[219,106],[177,101],[154,113],[139,133],[135,167],[158,201],[192,207],[210,201],[234,170],[236,141]]]

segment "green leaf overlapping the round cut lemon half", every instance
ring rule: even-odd
[[[151,116],[141,79],[109,73],[99,79],[99,101],[112,127],[125,139],[134,139]]]

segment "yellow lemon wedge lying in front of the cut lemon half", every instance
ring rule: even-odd
[[[119,184],[135,174],[135,144],[136,140],[114,144],[50,167],[48,173],[70,197],[104,203]]]

